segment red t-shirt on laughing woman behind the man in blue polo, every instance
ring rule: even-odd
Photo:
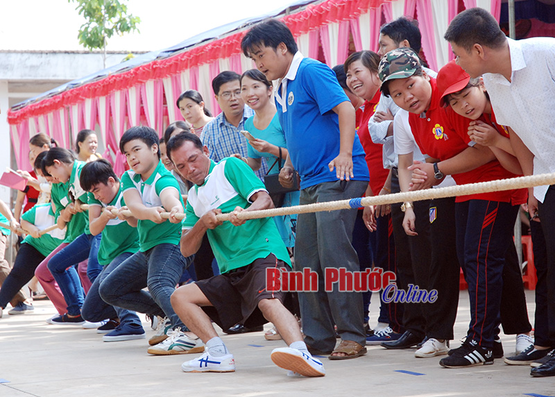
[[[359,140],[364,149],[364,160],[368,165],[368,171],[370,172],[370,188],[375,196],[379,194],[382,190],[384,184],[386,183],[387,176],[389,174],[388,169],[384,169],[383,160],[383,149],[381,144],[375,144],[370,137],[368,132],[368,120],[374,115],[376,111],[376,106],[379,102],[379,96],[381,92],[376,92],[375,96],[371,101],[364,102],[364,110],[362,112],[362,117],[360,123],[357,124],[357,133],[359,134]]]

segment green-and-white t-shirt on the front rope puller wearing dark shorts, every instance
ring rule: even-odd
[[[248,208],[250,197],[260,191],[266,192],[264,184],[244,161],[224,158],[218,164],[212,162],[205,183],[189,189],[183,228],[193,228],[203,214],[216,208],[222,212],[232,212],[237,206]],[[272,218],[249,219],[241,226],[226,221],[207,234],[221,273],[248,266],[271,253],[291,266]]]

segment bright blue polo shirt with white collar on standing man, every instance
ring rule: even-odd
[[[336,170],[330,172],[327,166],[340,149],[339,117],[332,109],[345,101],[349,101],[348,96],[332,69],[295,54],[287,75],[276,88],[275,104],[291,162],[300,174],[301,189],[337,180]],[[369,180],[357,134],[352,144],[352,162],[352,180]]]

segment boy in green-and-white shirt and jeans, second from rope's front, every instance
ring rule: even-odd
[[[183,200],[176,178],[160,161],[158,136],[153,128],[128,129],[119,141],[130,170],[121,176],[123,199],[137,219],[139,251],[123,261],[100,285],[100,296],[112,306],[151,316],[167,316],[171,321],[169,339],[152,338],[148,349],[154,355],[196,353],[204,350],[200,339],[186,337],[187,330],[173,311],[170,296],[192,262],[179,250]],[[169,219],[161,216],[170,212]],[[143,291],[148,287],[148,292]],[[173,332],[172,332],[173,329]],[[166,343],[168,342],[168,343]]]

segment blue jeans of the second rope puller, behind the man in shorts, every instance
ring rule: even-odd
[[[179,246],[169,243],[134,253],[101,282],[100,296],[112,306],[167,316],[174,329],[186,330],[171,307],[170,296],[193,257],[183,257]],[[148,287],[148,292],[144,287]]]

